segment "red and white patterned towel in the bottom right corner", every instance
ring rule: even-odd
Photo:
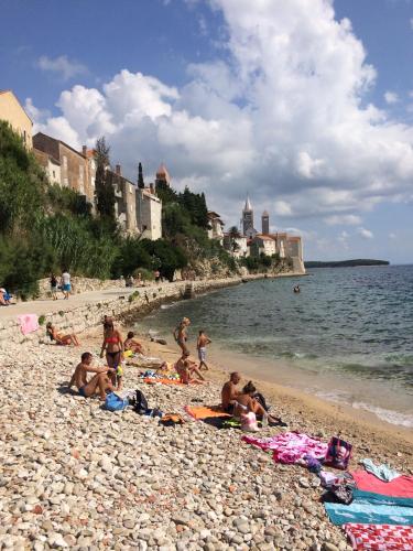
[[[398,525],[357,525],[344,527],[352,549],[374,551],[412,551],[413,527]]]

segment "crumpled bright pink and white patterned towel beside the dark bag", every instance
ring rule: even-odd
[[[258,439],[257,436],[242,436],[248,444],[261,447],[261,450],[273,450],[275,463],[306,465],[306,455],[315,458],[324,458],[327,453],[327,444],[318,439],[301,434],[298,432],[284,432],[269,439]]]

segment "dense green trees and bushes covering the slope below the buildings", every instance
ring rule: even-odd
[[[159,269],[198,270],[210,261],[235,270],[222,247],[207,237],[204,195],[160,190],[164,238],[124,237],[110,216],[93,216],[85,197],[50,185],[21,139],[0,121],[0,283],[22,298],[35,295],[37,280],[68,269],[89,278],[118,278]]]

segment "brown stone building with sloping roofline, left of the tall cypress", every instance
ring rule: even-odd
[[[85,195],[87,201],[94,204],[95,188],[89,181],[89,162],[83,152],[43,132],[33,137],[33,148],[61,163],[62,187],[69,187]]]

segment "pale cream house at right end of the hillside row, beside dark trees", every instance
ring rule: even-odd
[[[137,188],[138,229],[144,239],[162,238],[162,201],[156,196],[153,184]]]

